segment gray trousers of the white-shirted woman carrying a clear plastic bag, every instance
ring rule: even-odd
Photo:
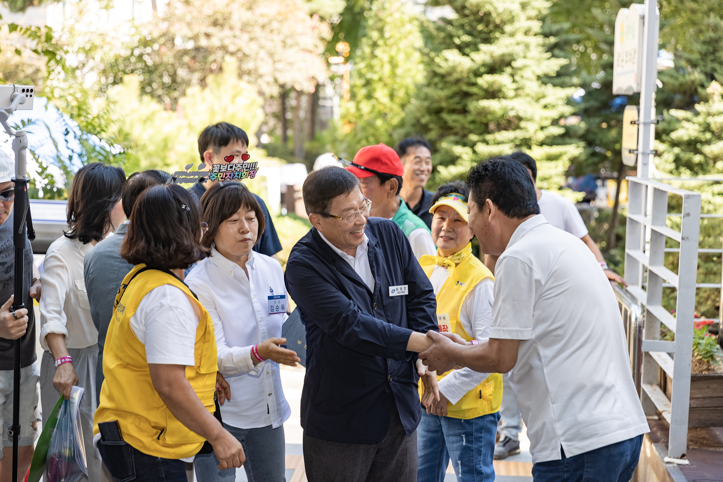
[[[87,479],[82,481],[99,482],[101,480],[100,455],[93,447],[93,416],[95,416],[95,365],[98,362],[98,345],[87,348],[68,348],[68,354],[73,358],[73,368],[78,374],[78,387],[85,388],[80,398],[80,426],[83,430],[85,442],[85,457],[88,464]],[[53,384],[55,376],[55,361],[50,351],[43,352],[40,361],[40,404],[43,406],[43,425],[50,416],[60,397],[59,390]],[[103,480],[107,480],[103,478]]]

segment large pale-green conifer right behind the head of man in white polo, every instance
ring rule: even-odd
[[[451,0],[455,18],[423,24],[426,78],[408,108],[407,131],[436,147],[437,181],[458,178],[491,155],[529,150],[539,184],[558,188],[581,149],[562,137],[576,87],[544,82],[566,59],[541,34],[544,0]]]

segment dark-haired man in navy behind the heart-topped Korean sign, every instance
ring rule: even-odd
[[[198,136],[198,154],[201,161],[208,166],[209,171],[213,164],[228,163],[226,158],[229,155],[234,156],[231,163],[243,162],[241,155],[246,154],[248,150],[249,136],[243,129],[234,126],[234,124],[228,124],[228,122],[219,122],[213,124],[213,126],[208,126]],[[189,191],[195,194],[198,199],[201,199],[206,189],[217,182],[206,179],[203,183],[197,182],[194,184]],[[259,242],[254,246],[254,251],[278,259],[276,253],[281,251],[281,243],[278,241],[278,234],[276,234],[269,210],[263,199],[256,194],[254,194],[254,197],[261,205],[266,220],[266,229]]]

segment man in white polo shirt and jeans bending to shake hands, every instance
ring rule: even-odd
[[[438,373],[511,370],[535,482],[628,481],[649,428],[607,277],[578,238],[539,215],[515,160],[476,165],[467,185],[469,226],[482,252],[500,257],[489,341],[427,333],[433,344],[419,358]]]

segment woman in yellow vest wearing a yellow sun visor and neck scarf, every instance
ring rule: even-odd
[[[469,190],[455,181],[432,197],[432,238],[437,256],[419,259],[437,296],[440,332],[487,340],[495,278],[471,251],[467,225]],[[418,482],[442,482],[450,459],[458,481],[494,481],[492,467],[502,376],[470,369],[438,376],[440,400],[419,386],[427,413],[417,428]]]

